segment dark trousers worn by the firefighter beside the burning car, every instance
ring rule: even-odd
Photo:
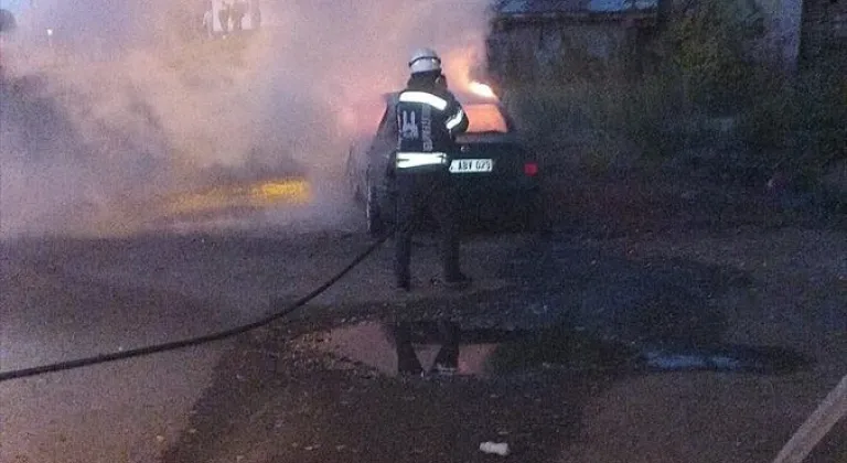
[[[427,213],[438,223],[442,277],[460,279],[457,195],[449,172],[398,173],[394,274],[397,281],[411,277],[411,237]]]

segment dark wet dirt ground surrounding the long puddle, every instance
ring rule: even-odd
[[[494,441],[519,461],[770,462],[847,373],[847,237],[743,195],[716,202],[700,189],[641,184],[641,193],[617,181],[560,191],[560,232],[510,256],[490,252],[496,271],[483,274],[504,288],[326,305],[245,336],[164,461],[482,462],[495,456],[480,443]],[[363,317],[557,322],[600,345],[780,346],[813,364],[753,374],[535,362],[486,378],[392,376],[303,342]],[[580,348],[558,353],[598,352]],[[839,426],[808,462],[845,454]]]

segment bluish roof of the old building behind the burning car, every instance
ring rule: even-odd
[[[651,10],[658,0],[504,0],[501,14],[590,13]]]

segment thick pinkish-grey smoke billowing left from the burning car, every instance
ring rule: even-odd
[[[487,23],[486,0],[264,0],[260,34],[208,41],[203,3],[42,0],[19,19],[2,55],[0,237],[131,233],[169,194],[288,174],[315,202],[280,217],[332,224],[349,143],[409,53],[433,46],[462,85]]]

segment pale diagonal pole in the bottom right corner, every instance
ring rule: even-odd
[[[841,378],[806,422],[791,437],[773,463],[802,463],[833,427],[847,416],[847,376]]]

